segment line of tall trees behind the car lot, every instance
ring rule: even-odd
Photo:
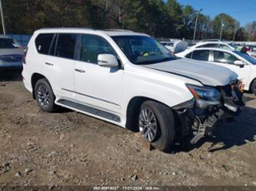
[[[155,38],[222,38],[256,40],[256,21],[245,28],[230,15],[211,19],[190,5],[176,0],[2,0],[8,34],[28,34],[38,28],[121,28]]]

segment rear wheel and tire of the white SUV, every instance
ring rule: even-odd
[[[35,83],[35,99],[42,110],[54,112],[57,109],[52,87],[45,78]]]

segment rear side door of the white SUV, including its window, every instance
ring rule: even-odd
[[[55,34],[48,57],[45,59],[44,74],[57,97],[74,99],[74,67],[76,34]]]

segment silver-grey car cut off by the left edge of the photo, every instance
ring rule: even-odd
[[[0,35],[0,70],[21,69],[24,49],[18,41]]]

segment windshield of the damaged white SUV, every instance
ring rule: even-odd
[[[126,35],[111,38],[133,64],[155,64],[176,59],[171,51],[148,36]]]

